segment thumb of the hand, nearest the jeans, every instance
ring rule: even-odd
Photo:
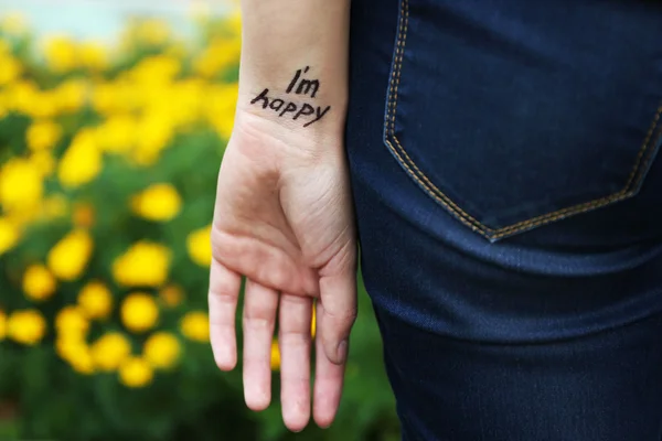
[[[318,338],[321,338],[327,358],[343,364],[348,356],[349,337],[356,319],[356,275],[345,270],[320,278],[320,300],[323,308],[318,320]]]

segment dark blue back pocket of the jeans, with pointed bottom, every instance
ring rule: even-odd
[[[634,196],[662,137],[662,12],[594,7],[586,32],[478,3],[401,0],[384,142],[409,176],[492,241]]]

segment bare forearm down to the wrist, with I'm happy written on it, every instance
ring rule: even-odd
[[[242,0],[238,110],[288,130],[343,130],[350,0]]]

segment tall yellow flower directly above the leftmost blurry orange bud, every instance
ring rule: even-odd
[[[66,187],[77,187],[94,180],[102,171],[102,152],[93,130],[82,130],[64,152],[57,178]]]

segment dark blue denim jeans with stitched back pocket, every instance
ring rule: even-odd
[[[346,146],[407,440],[662,439],[662,2],[353,0]]]

